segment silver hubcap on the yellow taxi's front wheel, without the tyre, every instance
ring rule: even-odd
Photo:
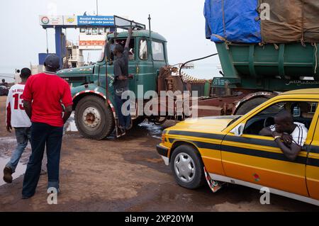
[[[179,153],[174,161],[175,173],[181,181],[189,183],[195,177],[195,164],[193,159],[186,153]]]

